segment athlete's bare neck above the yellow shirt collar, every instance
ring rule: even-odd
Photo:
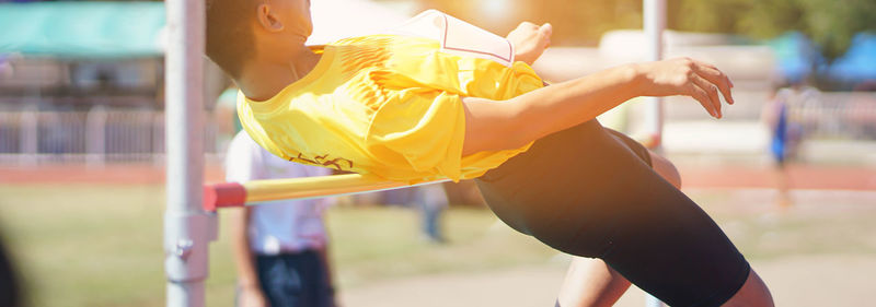
[[[321,55],[314,54],[303,44],[288,57],[258,57],[244,64],[238,86],[247,98],[267,101],[280,91],[307,75],[320,61]]]

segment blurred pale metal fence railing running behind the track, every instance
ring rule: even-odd
[[[757,120],[752,118],[752,120]],[[788,102],[788,120],[805,139],[876,140],[876,93],[811,93]],[[224,152],[217,120],[205,118],[205,152]],[[0,111],[0,164],[164,162],[164,113],[110,109],[88,111]]]

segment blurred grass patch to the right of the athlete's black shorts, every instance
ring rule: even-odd
[[[749,259],[793,255],[876,256],[876,197],[799,198],[791,208],[722,194],[694,194]],[[753,203],[752,203],[753,202]]]

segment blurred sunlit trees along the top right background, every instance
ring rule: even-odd
[[[385,0],[384,0],[385,1]],[[855,33],[876,31],[874,0],[667,0],[669,28],[772,38],[798,31],[828,61]],[[607,31],[642,27],[642,0],[420,0],[494,33],[551,22],[554,45],[592,45]]]

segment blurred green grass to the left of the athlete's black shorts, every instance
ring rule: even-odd
[[[0,187],[0,234],[32,306],[162,306],[164,268],[160,186]],[[339,290],[446,271],[546,261],[555,252],[496,223],[485,209],[452,209],[451,244],[420,240],[413,210],[342,206],[328,212]],[[228,235],[210,245],[208,306],[233,306]]]

